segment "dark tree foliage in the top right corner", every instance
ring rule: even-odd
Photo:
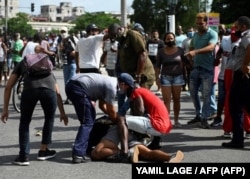
[[[220,13],[220,23],[231,24],[240,16],[250,17],[250,1],[213,0],[211,11]]]

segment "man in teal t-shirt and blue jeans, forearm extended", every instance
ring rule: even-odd
[[[188,124],[201,123],[201,127],[209,129],[211,96],[213,95],[214,80],[214,48],[218,42],[216,31],[208,27],[206,13],[198,13],[196,16],[197,32],[190,44],[190,51],[185,55],[193,60],[193,69],[190,73],[190,95],[195,107],[196,117]],[[202,93],[203,105],[199,97]]]

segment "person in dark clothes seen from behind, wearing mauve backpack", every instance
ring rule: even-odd
[[[34,46],[36,53],[46,52],[40,45]],[[26,57],[14,68],[7,86],[4,90],[4,106],[1,120],[6,123],[9,118],[9,100],[13,86],[18,79],[24,75],[24,87],[21,94],[21,115],[19,123],[19,155],[13,164],[27,166],[30,153],[29,125],[32,120],[32,114],[38,101],[40,101],[44,111],[44,125],[42,132],[42,141],[38,152],[38,160],[47,160],[56,156],[55,150],[49,150],[48,145],[52,142],[52,131],[56,108],[60,111],[60,120],[65,125],[68,124],[68,116],[65,114],[62,97],[60,95],[59,86],[52,71],[49,74],[41,76],[33,76],[28,74],[25,64]]]

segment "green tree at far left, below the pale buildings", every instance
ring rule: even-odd
[[[5,20],[1,23],[4,24]],[[16,17],[8,19],[8,34],[12,35],[19,32],[21,36],[33,36],[35,30],[28,24],[29,18],[25,13],[18,13]]]

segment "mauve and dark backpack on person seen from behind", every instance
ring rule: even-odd
[[[51,74],[53,64],[49,56],[43,53],[28,54],[25,56],[24,64],[27,73],[33,77],[45,77]]]

